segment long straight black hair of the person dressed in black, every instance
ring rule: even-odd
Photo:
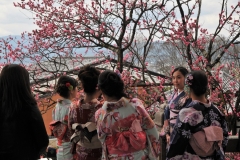
[[[28,71],[18,64],[4,66],[0,74],[0,117],[13,118],[36,104]]]

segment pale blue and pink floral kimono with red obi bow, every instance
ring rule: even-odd
[[[104,102],[96,114],[102,160],[156,160],[159,134],[139,99]]]

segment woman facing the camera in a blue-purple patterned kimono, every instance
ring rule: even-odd
[[[184,90],[185,76],[188,70],[184,67],[177,67],[172,72],[172,83],[175,91],[171,95],[171,99],[164,112],[164,125],[160,135],[166,135],[167,144],[170,142],[170,134],[176,123],[176,118],[179,111],[190,103],[187,91]]]

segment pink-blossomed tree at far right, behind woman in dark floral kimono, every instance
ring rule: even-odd
[[[207,28],[201,26],[202,5],[206,1],[196,0],[195,3],[180,3],[176,0],[178,7],[174,12],[175,17],[171,19],[169,28],[162,29],[166,41],[171,42],[179,53],[187,60],[191,70],[201,69],[209,75],[210,99],[218,107],[237,116],[239,111],[239,99],[236,93],[239,85],[231,81],[229,90],[224,89],[224,79],[220,72],[227,67],[232,77],[236,68],[234,63],[224,64],[223,58],[227,55],[239,55],[239,51],[232,50],[232,47],[239,44],[240,36],[240,2],[230,4],[226,0],[216,3],[219,10],[218,23],[211,33]],[[218,7],[218,8],[217,8]],[[222,34],[227,32],[223,38]],[[180,45],[179,45],[180,44]],[[183,45],[182,45],[183,44]]]

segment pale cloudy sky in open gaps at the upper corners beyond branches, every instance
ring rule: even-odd
[[[230,4],[236,4],[239,0],[228,1]],[[14,7],[13,2],[21,2],[21,0],[0,0],[0,37],[20,35],[24,31],[30,32],[37,28],[33,24],[31,13]],[[203,0],[200,24],[209,32],[213,32],[216,28],[220,2],[221,0]]]

